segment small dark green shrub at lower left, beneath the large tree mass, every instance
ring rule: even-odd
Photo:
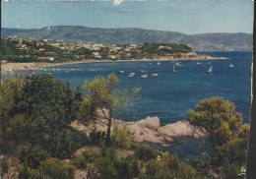
[[[47,152],[39,147],[21,146],[18,149],[18,157],[21,162],[27,163],[29,167],[38,169],[40,162],[46,159],[48,156]]]

